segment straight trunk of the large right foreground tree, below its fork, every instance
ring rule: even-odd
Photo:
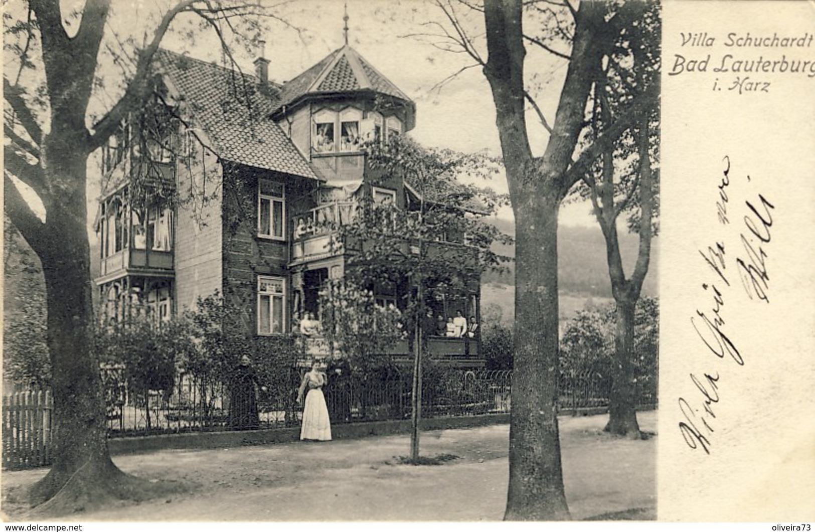
[[[515,209],[515,352],[504,519],[569,519],[557,431],[557,212],[538,196]]]

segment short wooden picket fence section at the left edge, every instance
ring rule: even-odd
[[[51,392],[15,392],[2,398],[2,466],[36,468],[51,464],[54,426]]]

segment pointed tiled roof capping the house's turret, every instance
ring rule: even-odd
[[[377,72],[377,69],[357,51],[346,45],[331,52],[292,81],[285,83],[276,107],[280,109],[305,95],[354,90],[375,90],[381,94],[410,101],[399,87]]]

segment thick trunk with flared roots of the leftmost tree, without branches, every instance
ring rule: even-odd
[[[163,488],[139,481],[108,453],[102,380],[93,345],[85,150],[56,130],[44,146],[46,177],[59,200],[48,204],[46,241],[33,242],[48,304],[47,344],[54,397],[54,464],[29,490],[37,515],[99,507],[110,499],[146,499]],[[46,502],[47,501],[47,502]]]

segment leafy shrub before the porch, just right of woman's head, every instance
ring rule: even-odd
[[[327,279],[319,292],[323,335],[350,363],[352,371],[368,371],[405,336],[402,313],[393,304],[377,305],[370,290],[345,279]]]

